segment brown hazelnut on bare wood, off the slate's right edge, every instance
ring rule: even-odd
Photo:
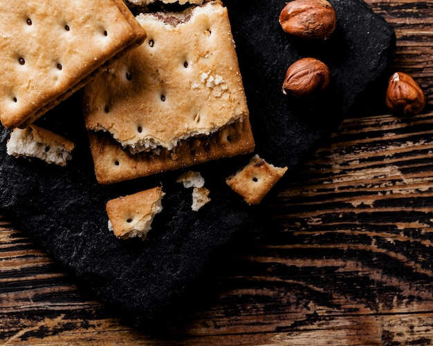
[[[425,106],[423,90],[406,73],[396,72],[389,78],[386,103],[390,110],[416,115]]]

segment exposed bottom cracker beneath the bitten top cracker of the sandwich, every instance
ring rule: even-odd
[[[130,155],[107,133],[93,131],[89,131],[89,142],[96,179],[100,184],[132,180],[223,157],[248,154],[255,147],[248,120],[224,126],[210,136],[182,141],[172,151],[161,148]]]

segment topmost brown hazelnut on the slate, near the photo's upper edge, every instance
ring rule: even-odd
[[[302,39],[326,39],[337,25],[335,10],[326,0],[294,0],[284,6],[279,23]]]

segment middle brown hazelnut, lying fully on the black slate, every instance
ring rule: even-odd
[[[331,79],[329,68],[322,61],[306,57],[295,61],[286,72],[283,83],[284,95],[300,97],[323,90]]]

